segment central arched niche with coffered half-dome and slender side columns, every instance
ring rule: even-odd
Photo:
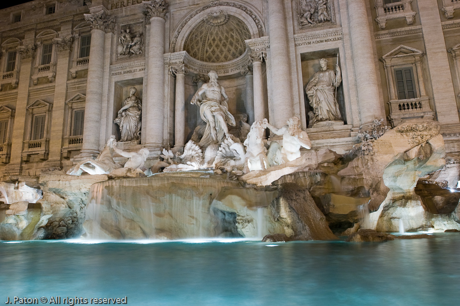
[[[200,143],[206,123],[200,107],[190,102],[209,81],[210,71],[217,73],[228,95],[228,110],[235,119],[230,134],[244,137],[240,134],[254,120],[266,117],[264,34],[262,16],[234,2],[203,6],[179,23],[170,53],[164,55],[169,72],[166,86],[174,88],[168,94],[175,106],[174,127],[168,131],[174,148],[183,148],[190,139]]]

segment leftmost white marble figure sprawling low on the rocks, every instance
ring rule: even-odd
[[[115,135],[112,135],[104,147],[104,150],[96,157],[96,159],[86,158],[78,162],[73,168],[67,171],[70,175],[81,175],[86,172],[88,174],[108,174],[115,169],[121,168],[119,163],[113,160],[112,144],[116,142]]]

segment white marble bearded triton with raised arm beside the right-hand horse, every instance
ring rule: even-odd
[[[300,128],[300,119],[296,116],[288,119],[287,124],[276,128],[263,119],[263,127],[269,128],[275,135],[283,135],[281,157],[283,163],[300,157],[300,148],[311,149],[311,142],[307,132]]]

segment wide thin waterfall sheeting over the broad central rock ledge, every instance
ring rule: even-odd
[[[241,187],[219,177],[175,174],[99,182],[90,189],[84,229],[102,239],[212,237],[210,205],[227,186]]]

